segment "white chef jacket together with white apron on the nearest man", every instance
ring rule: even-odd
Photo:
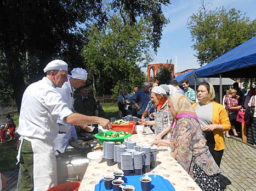
[[[17,132],[31,142],[33,150],[33,190],[45,191],[57,185],[56,157],[53,140],[59,132],[57,118],[72,114],[53,83],[43,77],[25,90],[20,109]],[[18,162],[20,159],[18,152]],[[20,179],[19,174],[19,179]],[[18,181],[19,182],[19,181]],[[18,190],[20,186],[18,184]]]

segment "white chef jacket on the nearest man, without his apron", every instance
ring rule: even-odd
[[[63,120],[71,114],[53,83],[43,77],[23,94],[17,132],[30,139],[53,140],[59,132],[57,118]]]

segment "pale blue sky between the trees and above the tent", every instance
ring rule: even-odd
[[[172,4],[163,8],[163,14],[170,20],[170,23],[163,29],[160,48],[158,48],[157,55],[153,55],[151,64],[166,63],[167,59],[168,61],[172,59],[173,64],[175,64],[175,73],[186,69],[199,68],[200,65],[194,56],[196,52],[191,47],[194,42],[192,42],[186,23],[193,13],[197,13],[201,1],[170,1]],[[246,16],[251,20],[256,18],[256,0],[212,0],[204,2],[212,3],[210,10],[224,6],[225,9],[241,10],[241,14],[246,13]]]

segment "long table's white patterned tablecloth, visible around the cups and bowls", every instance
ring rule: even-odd
[[[136,145],[139,146],[149,145],[155,140],[155,134],[151,132],[149,127],[145,127],[143,134],[135,133],[129,139],[136,141]],[[156,164],[156,167],[150,169],[151,171],[145,173],[145,175],[161,175],[172,183],[176,191],[201,190],[182,166],[174,158],[170,157],[166,147],[157,148]],[[93,191],[95,185],[103,178],[103,175],[112,175],[113,171],[117,170],[120,170],[117,164],[107,166],[105,159],[98,164],[89,163],[78,191]]]

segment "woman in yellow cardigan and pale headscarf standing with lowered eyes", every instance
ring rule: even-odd
[[[197,90],[197,97],[200,103],[193,104],[193,108],[196,111],[207,140],[209,151],[215,162],[220,166],[225,148],[223,132],[229,130],[231,127],[229,117],[223,105],[213,102],[215,92],[211,83],[200,83]]]

